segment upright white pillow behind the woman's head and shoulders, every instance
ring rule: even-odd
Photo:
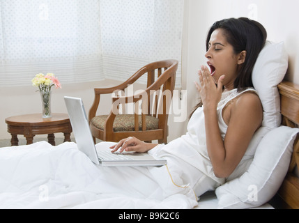
[[[284,42],[267,41],[261,50],[252,72],[252,83],[263,105],[263,126],[279,127],[281,123],[280,100],[277,85],[282,82],[288,68],[289,56]]]

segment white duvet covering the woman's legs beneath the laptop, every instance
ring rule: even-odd
[[[75,143],[0,148],[0,208],[194,208],[171,166],[96,166]]]

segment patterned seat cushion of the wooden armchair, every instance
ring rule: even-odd
[[[105,116],[95,116],[91,119],[91,123],[98,129],[104,130]],[[146,130],[158,129],[159,119],[153,116],[146,116]],[[113,124],[114,132],[131,132],[135,131],[135,117],[134,114],[118,114],[115,117]],[[142,130],[141,115],[139,116],[139,131]]]

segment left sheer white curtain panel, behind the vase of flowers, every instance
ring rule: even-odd
[[[104,79],[98,0],[0,0],[1,86],[36,73],[62,83]]]

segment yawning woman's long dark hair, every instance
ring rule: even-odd
[[[207,51],[210,36],[216,29],[222,29],[224,31],[227,42],[233,46],[233,50],[236,54],[239,54],[244,50],[246,51],[245,62],[241,65],[242,67],[238,72],[234,82],[234,88],[238,89],[238,91],[242,91],[242,89],[253,87],[252,71],[254,64],[256,63],[256,59],[266,43],[266,29],[259,22],[245,17],[220,20],[215,22],[208,31],[208,36],[206,38]],[[200,102],[194,108],[192,114],[198,107],[201,107],[201,105],[202,104]]]

